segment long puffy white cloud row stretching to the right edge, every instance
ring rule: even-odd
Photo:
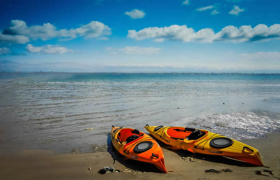
[[[254,28],[251,26],[240,26],[239,28],[235,26],[226,26],[217,33],[211,28],[204,28],[196,32],[193,28],[188,28],[186,25],[148,27],[140,31],[128,30],[128,37],[136,40],[164,38],[183,42],[212,43],[215,41],[223,41],[238,43],[279,38],[280,24],[274,24],[270,27],[259,24]]]

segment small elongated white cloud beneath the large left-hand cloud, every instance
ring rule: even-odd
[[[26,46],[26,50],[28,50],[31,53],[47,53],[47,54],[64,54],[67,52],[74,52],[73,50],[69,50],[66,47],[60,47],[60,46],[52,46],[52,45],[46,45],[46,46],[33,46],[32,44],[28,44]]]

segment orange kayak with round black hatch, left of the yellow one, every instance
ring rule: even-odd
[[[136,129],[112,126],[111,140],[125,157],[151,163],[167,173],[161,147],[151,136]]]

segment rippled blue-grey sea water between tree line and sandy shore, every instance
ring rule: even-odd
[[[0,75],[0,89],[0,153],[110,151],[112,125],[280,130],[280,76]]]

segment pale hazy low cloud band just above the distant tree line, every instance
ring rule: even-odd
[[[147,64],[95,64],[86,62],[30,62],[18,63],[0,59],[0,67],[2,70],[10,71],[68,71],[68,72],[247,72],[247,73],[278,73],[279,64],[256,65],[239,63],[235,66],[211,66],[207,64],[166,64],[166,63],[147,63]]]

